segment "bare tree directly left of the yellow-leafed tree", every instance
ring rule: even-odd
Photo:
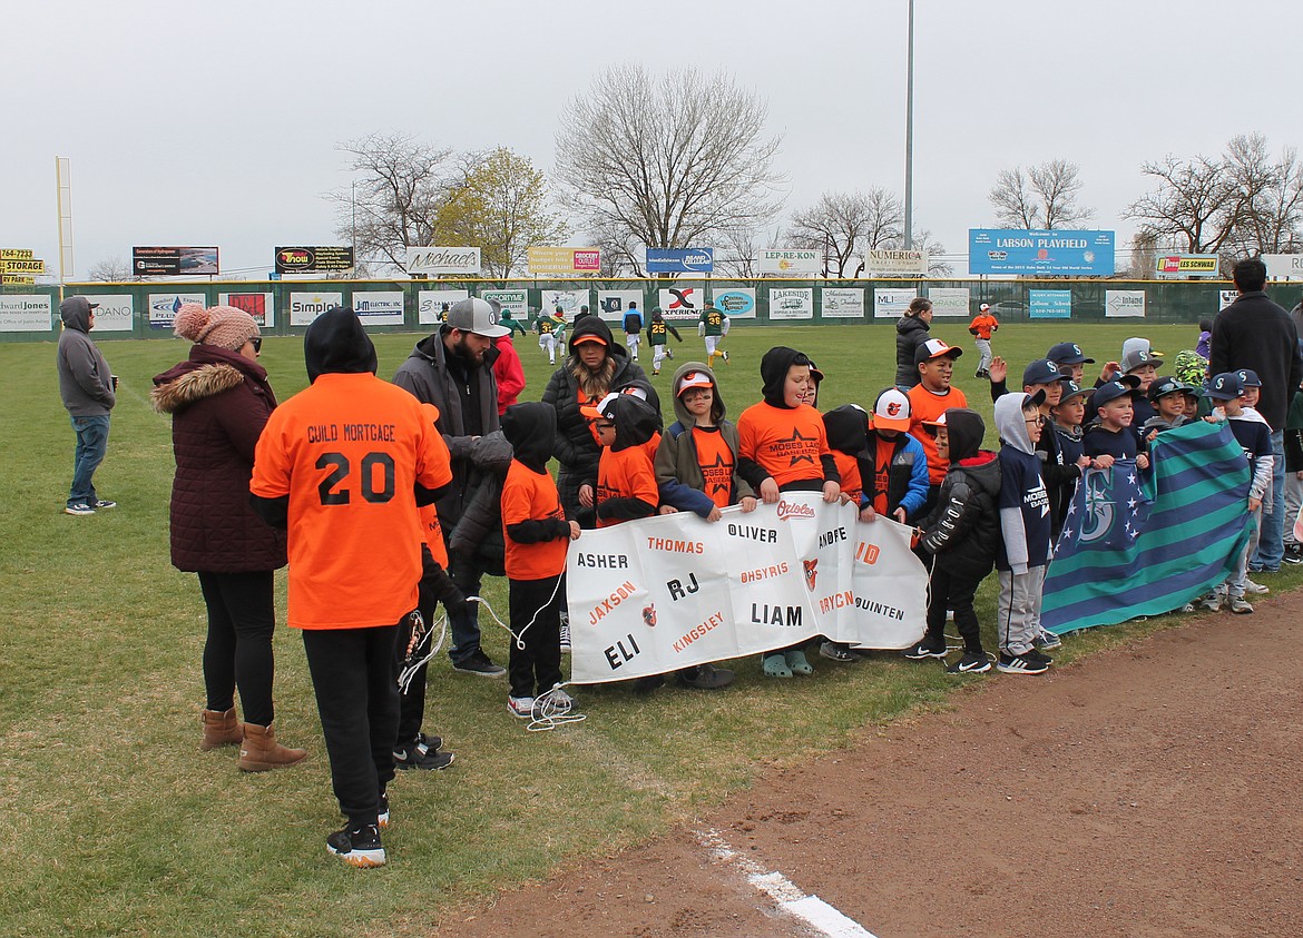
[[[335,233],[354,239],[357,260],[405,269],[407,248],[460,246],[450,219],[451,150],[404,134],[369,134],[340,143],[351,156],[353,187],[326,198],[336,206]],[[452,216],[459,215],[451,212]]]

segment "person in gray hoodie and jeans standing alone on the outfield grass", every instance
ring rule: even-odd
[[[93,515],[96,509],[117,507],[117,502],[95,493],[95,470],[108,451],[108,415],[117,403],[117,379],[108,369],[103,353],[90,338],[95,310],[85,297],[69,297],[59,304],[64,330],[59,334],[59,394],[73,422],[77,449],[73,455],[73,484],[64,511]]]

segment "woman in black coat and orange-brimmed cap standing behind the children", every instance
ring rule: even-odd
[[[556,477],[562,509],[567,519],[590,528],[597,520],[593,496],[585,490],[584,497],[580,487],[597,477],[602,448],[580,407],[597,405],[614,388],[636,379],[646,381],[646,375],[636,362],[629,360],[624,346],[615,343],[611,327],[598,316],[576,320],[567,347],[569,356],[552,372],[543,392],[543,403],[556,409],[554,455],[562,464]]]

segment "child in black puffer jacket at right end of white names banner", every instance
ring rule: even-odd
[[[928,631],[904,656],[945,660],[946,610],[954,609],[964,650],[946,671],[982,674],[990,670],[990,661],[981,645],[973,597],[999,549],[1001,458],[981,449],[986,425],[976,411],[951,407],[932,425],[949,468],[937,506],[919,523],[919,549],[932,557]]]

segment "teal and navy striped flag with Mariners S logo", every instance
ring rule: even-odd
[[[1248,463],[1226,424],[1160,433],[1151,471],[1087,470],[1045,575],[1055,635],[1179,609],[1221,583],[1250,537]]]

